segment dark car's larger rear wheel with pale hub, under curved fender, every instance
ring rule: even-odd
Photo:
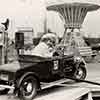
[[[18,96],[21,100],[32,100],[37,94],[37,80],[34,76],[23,79],[19,87]]]

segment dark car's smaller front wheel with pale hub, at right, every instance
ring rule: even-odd
[[[87,71],[84,65],[80,64],[77,70],[74,72],[73,78],[84,80],[86,78]]]

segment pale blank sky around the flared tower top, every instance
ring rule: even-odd
[[[73,0],[74,1],[74,0]],[[82,0],[80,0],[82,1]],[[100,3],[100,0],[87,0]],[[48,27],[62,36],[63,22],[55,12],[45,9],[44,0],[0,0],[0,22],[10,19],[9,37],[14,38],[17,27],[32,27],[35,36],[44,31],[44,19],[47,16]],[[82,31],[87,35],[100,36],[100,9],[87,14]]]

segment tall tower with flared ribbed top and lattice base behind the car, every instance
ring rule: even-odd
[[[47,10],[58,12],[64,22],[65,30],[60,43],[64,47],[64,53],[66,53],[66,47],[79,49],[80,47],[87,46],[80,29],[82,28],[86,14],[99,8],[99,5],[93,3],[68,3],[66,0],[47,3]],[[75,30],[78,31],[76,32]]]

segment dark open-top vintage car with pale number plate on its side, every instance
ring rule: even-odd
[[[50,83],[66,76],[85,79],[86,74],[86,64],[80,57],[20,55],[18,62],[0,66],[0,85],[5,87],[2,92],[8,92],[6,88],[14,87],[14,93],[21,99],[32,100],[37,91],[41,90],[41,82]]]

